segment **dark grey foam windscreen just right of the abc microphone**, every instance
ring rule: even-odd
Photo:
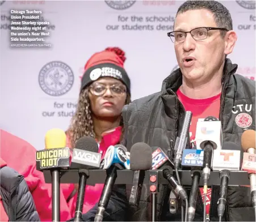
[[[152,148],[146,143],[135,143],[130,152],[131,170],[148,170],[152,168]]]

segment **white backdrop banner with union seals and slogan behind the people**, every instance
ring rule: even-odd
[[[126,53],[132,100],[160,91],[177,67],[166,33],[183,2],[1,1],[0,127],[43,149],[47,130],[69,126],[87,59],[108,46]],[[229,58],[254,79],[255,1],[222,3],[238,35]]]

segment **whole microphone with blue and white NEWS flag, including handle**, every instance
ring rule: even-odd
[[[191,167],[192,186],[188,200],[187,221],[194,221],[196,210],[196,199],[198,198],[198,187],[203,166],[203,150],[186,149],[182,155],[182,167]]]

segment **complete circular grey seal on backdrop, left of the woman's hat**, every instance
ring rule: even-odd
[[[52,61],[39,72],[39,86],[50,96],[62,96],[73,86],[74,74],[64,62]]]

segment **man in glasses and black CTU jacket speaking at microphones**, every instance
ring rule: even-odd
[[[173,42],[179,69],[163,80],[160,92],[124,106],[123,145],[130,151],[133,144],[144,142],[150,147],[161,147],[165,153],[169,149],[174,151],[174,143],[170,142],[175,142],[180,135],[184,113],[189,110],[192,112],[191,141],[195,139],[198,119],[213,116],[221,121],[223,142],[241,146],[244,130],[255,130],[255,82],[235,74],[238,66],[226,58],[233,52],[237,40],[228,9],[217,1],[186,1],[178,8],[174,31],[167,36]],[[157,220],[180,221],[180,210],[169,213],[168,190],[160,186]],[[148,197],[141,195],[139,210],[130,214],[136,218],[123,219],[149,221]],[[255,221],[249,197],[247,187],[228,187],[228,210],[223,220]],[[218,198],[219,188],[212,186],[207,197],[208,221],[219,221]],[[118,199],[112,199],[115,206],[121,206]],[[113,212],[113,209],[106,211]],[[200,196],[194,221],[203,221]]]

